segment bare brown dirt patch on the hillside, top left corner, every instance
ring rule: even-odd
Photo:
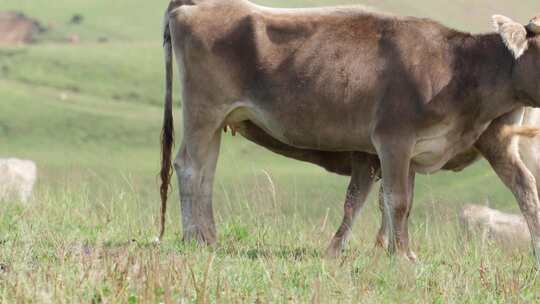
[[[46,29],[20,12],[0,12],[0,45],[32,43]]]

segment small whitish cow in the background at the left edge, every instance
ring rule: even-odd
[[[0,159],[0,200],[27,202],[36,182],[36,164],[17,158]]]

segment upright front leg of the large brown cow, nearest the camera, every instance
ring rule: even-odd
[[[410,168],[412,140],[407,136],[375,137],[381,161],[384,202],[384,225],[388,235],[388,252],[396,252],[411,261],[416,255],[409,248],[408,215],[414,172]]]

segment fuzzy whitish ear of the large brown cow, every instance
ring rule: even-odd
[[[529,47],[525,27],[505,16],[494,15],[492,18],[495,30],[501,35],[506,47],[516,59],[521,57]]]

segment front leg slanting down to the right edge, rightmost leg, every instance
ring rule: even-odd
[[[497,123],[497,122],[495,122]],[[503,183],[512,191],[532,238],[533,252],[540,263],[540,202],[536,180],[519,156],[516,138],[511,138],[491,128],[477,142],[478,150],[489,161]]]

